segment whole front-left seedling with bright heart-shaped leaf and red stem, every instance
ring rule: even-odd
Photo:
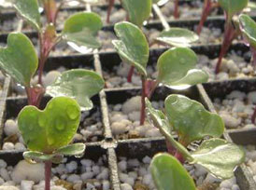
[[[59,164],[64,156],[80,156],[83,143],[71,143],[78,130],[80,107],[68,97],[53,98],[45,110],[25,106],[19,116],[18,125],[24,142],[30,151],[24,152],[29,162],[45,163],[45,190],[50,190],[51,164]]]

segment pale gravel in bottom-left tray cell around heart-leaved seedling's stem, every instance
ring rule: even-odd
[[[96,162],[91,159],[81,159],[79,162],[63,162],[51,169],[50,189],[64,190],[109,190],[110,182],[106,167],[106,156]],[[16,166],[7,166],[0,159],[0,189],[1,190],[43,190],[44,165],[42,163],[29,164],[21,160]]]

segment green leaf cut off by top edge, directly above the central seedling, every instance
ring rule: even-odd
[[[121,0],[121,6],[127,11],[129,21],[140,28],[149,19],[152,0]]]

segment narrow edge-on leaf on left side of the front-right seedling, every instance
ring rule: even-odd
[[[152,107],[148,99],[146,99],[146,111],[149,117],[149,121],[154,127],[158,128],[164,135],[166,141],[172,144],[172,146],[178,150],[178,152],[188,161],[192,162],[193,158],[189,151],[182,144],[178,143],[172,136],[172,129],[169,126],[168,120],[166,119],[163,112],[156,110]]]

